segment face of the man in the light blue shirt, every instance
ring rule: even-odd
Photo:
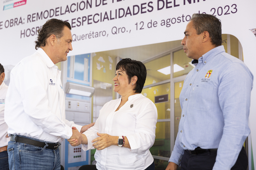
[[[181,41],[183,50],[188,58],[198,60],[201,56],[202,48],[202,34],[197,35],[196,29],[193,27],[193,21],[189,21],[184,32],[185,37]]]

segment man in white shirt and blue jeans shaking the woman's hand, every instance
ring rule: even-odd
[[[7,152],[10,169],[60,169],[60,142],[75,138],[81,144],[79,126],[65,119],[61,71],[55,65],[71,51],[70,24],[48,20],[38,30],[37,51],[11,71],[4,118],[11,136]],[[72,128],[76,127],[76,128]]]

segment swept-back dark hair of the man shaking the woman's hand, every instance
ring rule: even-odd
[[[37,41],[35,41],[36,50],[41,46],[44,47],[46,44],[46,39],[52,34],[54,34],[57,38],[61,38],[63,36],[62,31],[65,26],[71,30],[71,26],[67,21],[54,18],[47,20],[43,27],[37,31],[38,36]]]

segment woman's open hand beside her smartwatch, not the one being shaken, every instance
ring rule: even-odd
[[[94,148],[96,148],[97,150],[102,150],[115,144],[114,141],[116,137],[108,135],[106,133],[98,133],[98,132],[97,132],[97,135],[99,137],[92,140],[92,143],[95,142],[94,144],[92,144],[92,146],[94,146]],[[117,143],[117,140],[118,139],[116,139],[116,143]]]

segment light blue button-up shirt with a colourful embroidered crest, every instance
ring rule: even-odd
[[[223,46],[200,57],[180,93],[179,131],[169,162],[180,165],[184,150],[218,148],[213,170],[230,170],[250,134],[252,83],[251,71]]]

